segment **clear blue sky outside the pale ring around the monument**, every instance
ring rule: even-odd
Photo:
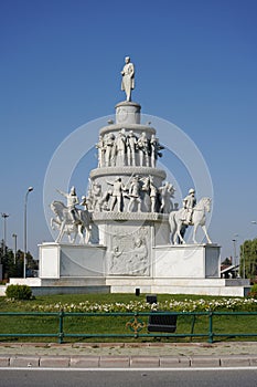
[[[29,250],[36,254],[38,243],[52,240],[43,209],[47,165],[73,130],[124,100],[127,54],[142,113],[178,125],[203,154],[214,188],[210,233],[222,255],[234,253],[235,234],[238,244],[256,237],[256,17],[255,0],[2,0],[0,211],[10,213],[8,245],[15,232],[23,248],[29,186]]]

